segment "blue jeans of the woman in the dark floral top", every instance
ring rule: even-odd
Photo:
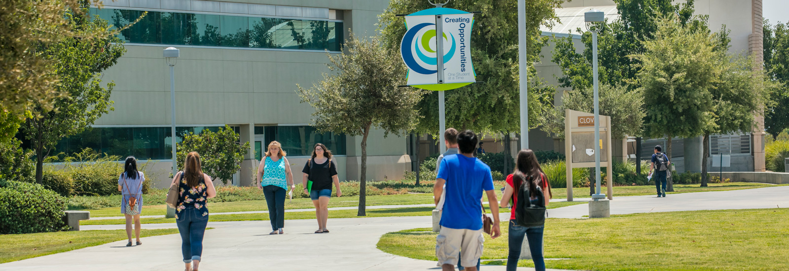
[[[186,208],[181,211],[175,224],[178,225],[178,232],[181,233],[181,254],[184,255],[184,262],[200,261],[208,215],[204,216],[194,208]]]

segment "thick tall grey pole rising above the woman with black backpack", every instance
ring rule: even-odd
[[[521,149],[529,148],[529,78],[526,64],[526,3],[518,0],[518,67],[521,96]],[[596,77],[595,77],[596,78]]]

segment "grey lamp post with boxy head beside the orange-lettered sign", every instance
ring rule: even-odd
[[[605,13],[600,10],[592,9],[584,13],[586,30],[592,32],[592,72],[594,76],[594,165],[595,165],[595,188],[596,193],[592,199],[605,199],[605,194],[600,192],[600,106],[599,96],[597,95],[597,33],[605,27]],[[610,132],[610,131],[609,131]],[[611,176],[609,176],[610,178]],[[610,181],[610,180],[609,180]]]

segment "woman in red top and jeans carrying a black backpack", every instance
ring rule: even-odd
[[[518,196],[515,191],[518,187],[524,185],[524,182],[531,182],[529,185],[530,194],[536,195],[537,187],[542,187],[545,195],[545,206],[551,199],[551,185],[548,184],[548,178],[545,177],[540,163],[537,162],[537,156],[529,149],[521,150],[518,152],[518,158],[515,160],[515,172],[507,176],[507,185],[504,187],[504,195],[501,198],[499,206],[506,208],[510,203],[510,198],[513,199],[512,210],[510,214],[510,254],[507,257],[507,271],[515,271],[518,268],[518,259],[521,257],[521,247],[523,245],[523,238],[529,240],[529,251],[532,253],[534,260],[534,269],[537,271],[545,270],[545,261],[543,259],[543,230],[544,226],[539,227],[523,227],[518,225],[515,221],[515,206],[518,206]],[[532,196],[532,204],[537,204],[537,197]]]

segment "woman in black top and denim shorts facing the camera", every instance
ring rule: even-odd
[[[315,144],[312,149],[312,158],[304,165],[301,170],[304,173],[304,179],[301,184],[304,185],[304,193],[309,195],[312,199],[312,204],[315,205],[315,217],[318,219],[318,230],[315,233],[329,232],[326,228],[326,221],[329,218],[329,199],[331,199],[331,184],[334,183],[337,187],[337,196],[342,196],[340,191],[340,180],[337,178],[337,165],[331,161],[331,150],[327,149],[321,143]],[[312,182],[312,187],[308,189],[307,180]]]

